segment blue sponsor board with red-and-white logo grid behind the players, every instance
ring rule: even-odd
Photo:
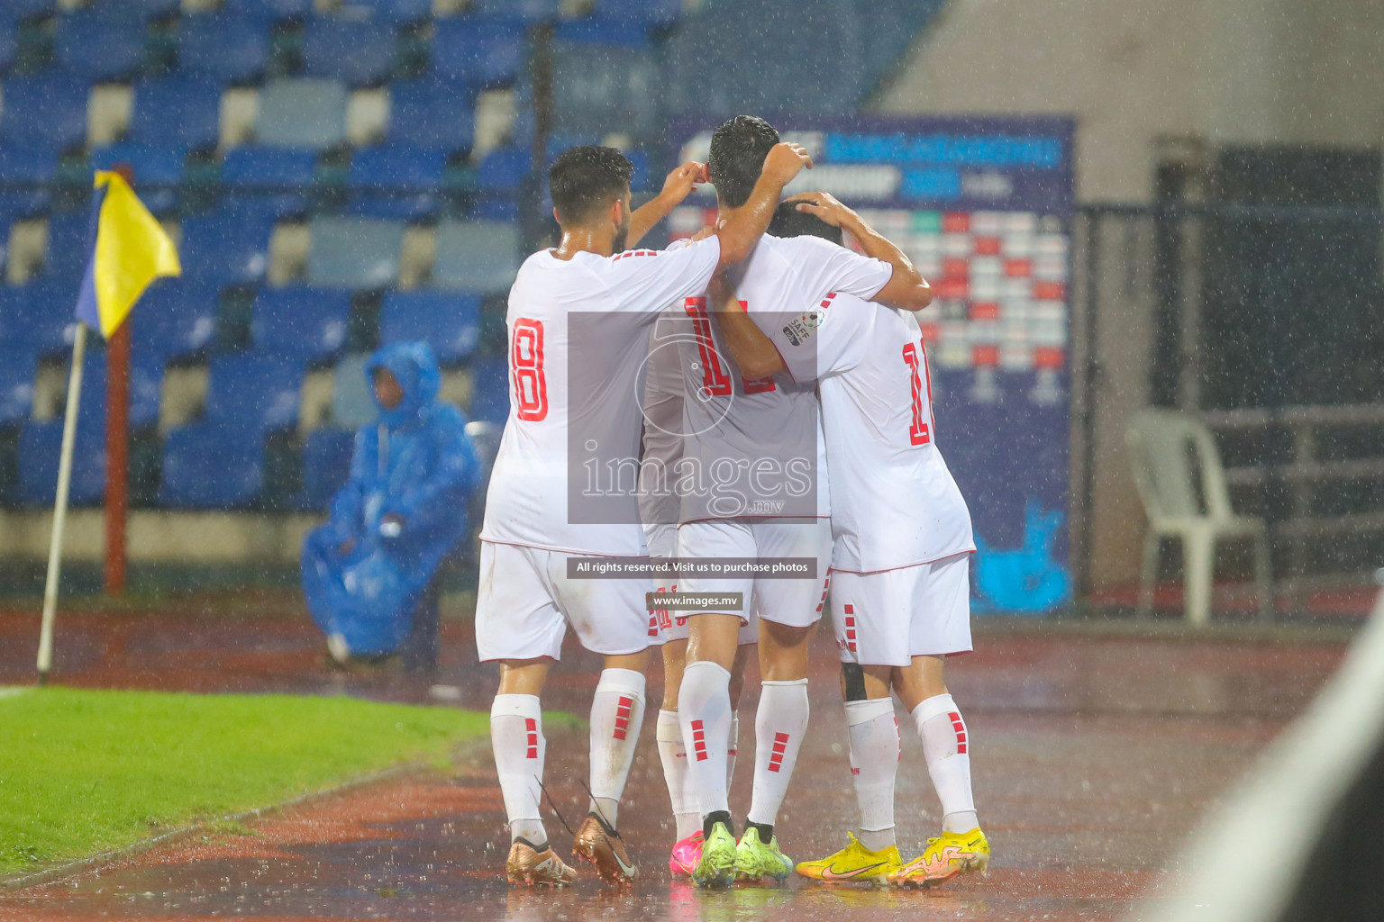
[[[833,194],[933,285],[936,300],[919,321],[937,444],[976,527],[976,611],[1062,608],[1071,594],[1073,120],[770,120],[817,163],[787,194]],[[674,156],[704,160],[717,122],[677,123]],[[714,217],[707,189],[671,216],[671,234],[693,234]]]

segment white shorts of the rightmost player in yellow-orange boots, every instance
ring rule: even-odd
[[[970,554],[875,574],[832,571],[841,662],[907,666],[970,652]]]

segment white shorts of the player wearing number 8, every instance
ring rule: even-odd
[[[569,626],[583,647],[605,657],[663,643],[645,599],[653,581],[569,579],[569,557],[583,554],[480,542],[476,650],[482,662],[561,659]]]

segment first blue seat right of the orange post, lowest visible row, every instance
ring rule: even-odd
[[[255,429],[192,423],[163,440],[158,503],[166,509],[249,506],[264,487],[264,435]]]

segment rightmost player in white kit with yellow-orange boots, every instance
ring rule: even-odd
[[[807,232],[861,227],[830,195],[793,200],[817,216],[808,220],[819,229]],[[768,329],[765,337],[729,299],[718,307],[732,354],[786,368],[799,380],[815,377],[822,402],[835,538],[832,622],[861,822],[844,849],[804,861],[797,872],[934,886],[984,871],[990,843],[976,818],[966,724],[943,672],[945,657],[972,648],[976,545],[966,500],[937,449],[918,322],[909,312],[832,293],[805,325],[807,336]],[[944,814],[941,835],[908,863],[894,838],[901,749],[890,688],[913,717]]]

